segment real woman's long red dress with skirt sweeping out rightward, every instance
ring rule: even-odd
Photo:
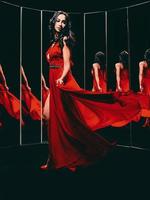
[[[94,131],[112,123],[131,121],[140,113],[138,102],[121,102],[112,94],[97,94],[79,87],[71,72],[63,86],[56,80],[63,71],[62,50],[56,43],[46,52],[50,66],[50,123],[48,131],[53,168],[86,166],[106,155],[112,144]]]

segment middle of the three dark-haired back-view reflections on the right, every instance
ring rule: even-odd
[[[119,54],[119,62],[115,64],[116,72],[116,91],[128,92],[129,84],[129,69],[128,69],[128,52],[122,51]]]

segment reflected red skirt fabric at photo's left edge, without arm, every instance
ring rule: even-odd
[[[0,83],[0,104],[5,108],[8,114],[20,120],[20,100]]]

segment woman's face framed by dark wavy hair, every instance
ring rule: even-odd
[[[58,15],[54,25],[56,32],[61,32],[61,30],[66,26],[66,16],[64,14]]]

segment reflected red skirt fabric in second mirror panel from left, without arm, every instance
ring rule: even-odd
[[[30,117],[33,120],[41,120],[41,103],[24,84],[22,84],[22,100],[26,104]]]

